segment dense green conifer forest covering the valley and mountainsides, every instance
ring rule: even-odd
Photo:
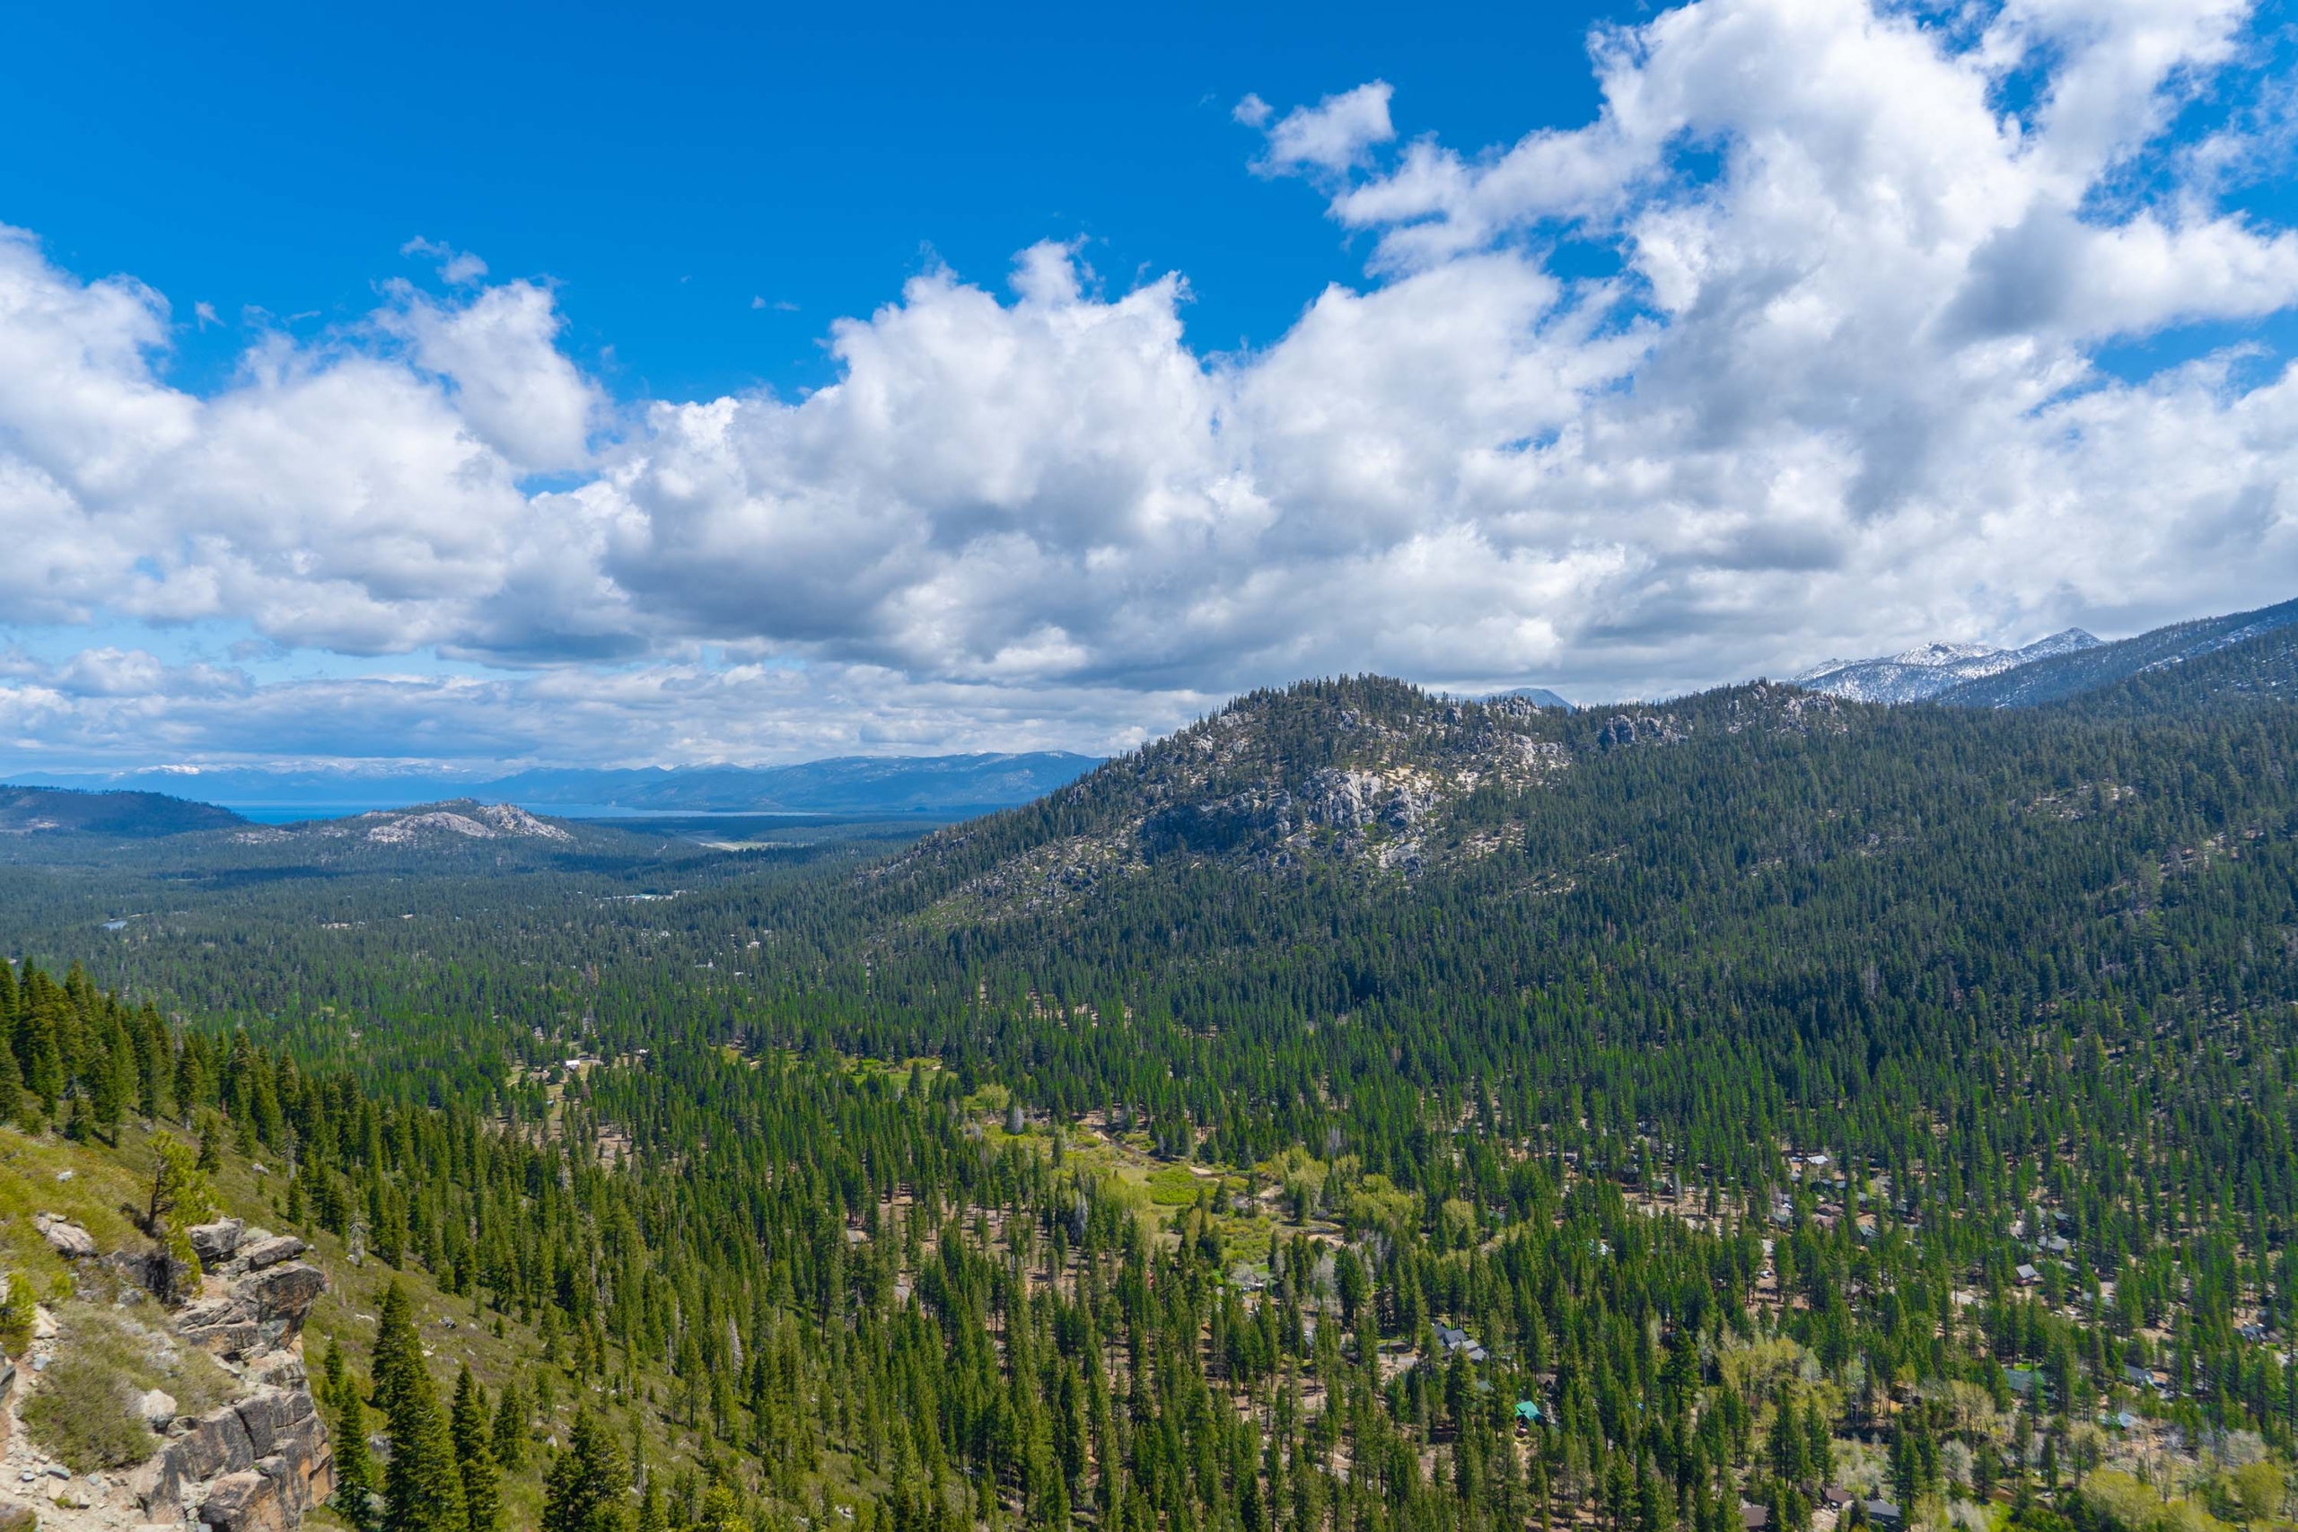
[[[7,866],[0,1135],[214,1112],[365,1305],[331,1408],[478,1461],[395,1277],[547,1527],[2275,1523],[2287,652],[1328,680],[892,843]]]

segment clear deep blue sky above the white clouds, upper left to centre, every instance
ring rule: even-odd
[[[223,324],[177,338],[188,386],[234,365],[246,308],[308,333],[423,276],[398,255],[418,234],[549,276],[565,347],[634,395],[825,384],[830,319],[1041,239],[1119,283],[1186,271],[1190,345],[1234,349],[1363,264],[1301,186],[1246,175],[1246,92],[1386,78],[1406,133],[1501,142],[1528,108],[1595,110],[1583,39],[1615,14],[32,7],[0,136],[41,152],[0,218],[179,319],[211,303]]]

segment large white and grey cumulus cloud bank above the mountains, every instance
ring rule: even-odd
[[[161,294],[5,230],[9,620],[177,639],[11,650],[0,740],[1110,749],[1310,673],[1655,694],[2280,599],[2298,374],[2241,335],[2298,234],[2222,200],[2289,152],[2250,23],[1698,0],[1590,39],[1595,119],[1478,149],[1397,147],[1381,80],[1248,96],[1250,168],[1367,257],[1282,340],[1197,354],[1179,273],[1043,243],[839,322],[804,400],[614,400],[547,283],[432,241],[444,292],[193,395]],[[2192,326],[2236,340],[2103,365]],[[404,661],[149,652],[225,629]]]

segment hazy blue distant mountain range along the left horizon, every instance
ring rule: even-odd
[[[439,799],[630,813],[892,813],[963,818],[1043,797],[1101,765],[1094,756],[839,756],[786,767],[542,767],[512,776],[264,772],[159,767],[28,772],[21,781],[83,790],[165,790],[246,811],[361,813]]]

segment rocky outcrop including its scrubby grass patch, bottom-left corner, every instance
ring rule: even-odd
[[[154,1295],[182,1286],[156,1270],[165,1256],[101,1252],[87,1229],[55,1215],[34,1222],[71,1261],[74,1282],[69,1298],[34,1309],[30,1344],[0,1364],[0,1530],[30,1527],[34,1514],[51,1532],[299,1527],[333,1491],[326,1422],[303,1371],[303,1318],[326,1275],[296,1259],[303,1240],[239,1220],[191,1229],[207,1275],[170,1307]],[[117,1378],[106,1387],[117,1355],[182,1378],[184,1399],[165,1387],[129,1392]],[[44,1447],[32,1429],[44,1394],[83,1415],[67,1422],[71,1447],[55,1442],[55,1429]],[[126,1419],[103,1419],[106,1408]],[[94,1447],[80,1442],[149,1442],[149,1456],[85,1470]],[[83,1470],[60,1454],[83,1456]]]

